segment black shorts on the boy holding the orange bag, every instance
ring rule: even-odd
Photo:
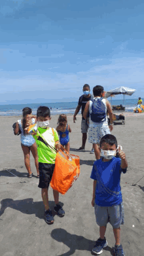
[[[44,164],[39,162],[39,185],[41,189],[48,189],[55,164]]]

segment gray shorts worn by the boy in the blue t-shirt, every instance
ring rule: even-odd
[[[98,226],[107,226],[107,223],[111,223],[113,229],[118,229],[120,225],[124,224],[124,206],[118,204],[117,206],[98,206],[95,204],[96,223]]]

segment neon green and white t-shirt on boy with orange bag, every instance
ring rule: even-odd
[[[52,132],[54,131],[54,134]],[[39,162],[55,164],[56,161],[56,141],[59,140],[58,132],[54,128],[37,128],[37,134],[33,135],[37,143],[37,153]],[[46,145],[48,143],[48,145]]]

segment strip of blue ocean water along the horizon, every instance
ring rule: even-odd
[[[111,102],[111,99],[108,99]],[[124,101],[125,111],[133,112],[134,108],[137,104],[138,99],[126,99]],[[141,99],[144,102],[144,99]],[[30,107],[33,110],[33,115],[36,115],[37,108],[41,105],[45,105],[50,109],[51,115],[60,115],[62,113],[65,114],[73,114],[75,113],[75,109],[77,107],[77,102],[56,102],[56,103],[27,103],[27,104],[17,104],[17,105],[0,105],[0,115],[1,116],[17,116],[22,115],[22,109],[24,107]],[[113,100],[111,105],[123,105],[123,100]],[[81,112],[79,112],[81,113]]]

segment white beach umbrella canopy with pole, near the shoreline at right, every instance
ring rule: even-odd
[[[123,105],[124,105],[125,96],[126,95],[131,96],[132,94],[134,94],[134,92],[135,92],[135,89],[121,86],[119,88],[115,88],[113,90],[109,90],[105,92],[105,98],[109,98],[110,96],[112,97],[118,94],[123,94]]]

